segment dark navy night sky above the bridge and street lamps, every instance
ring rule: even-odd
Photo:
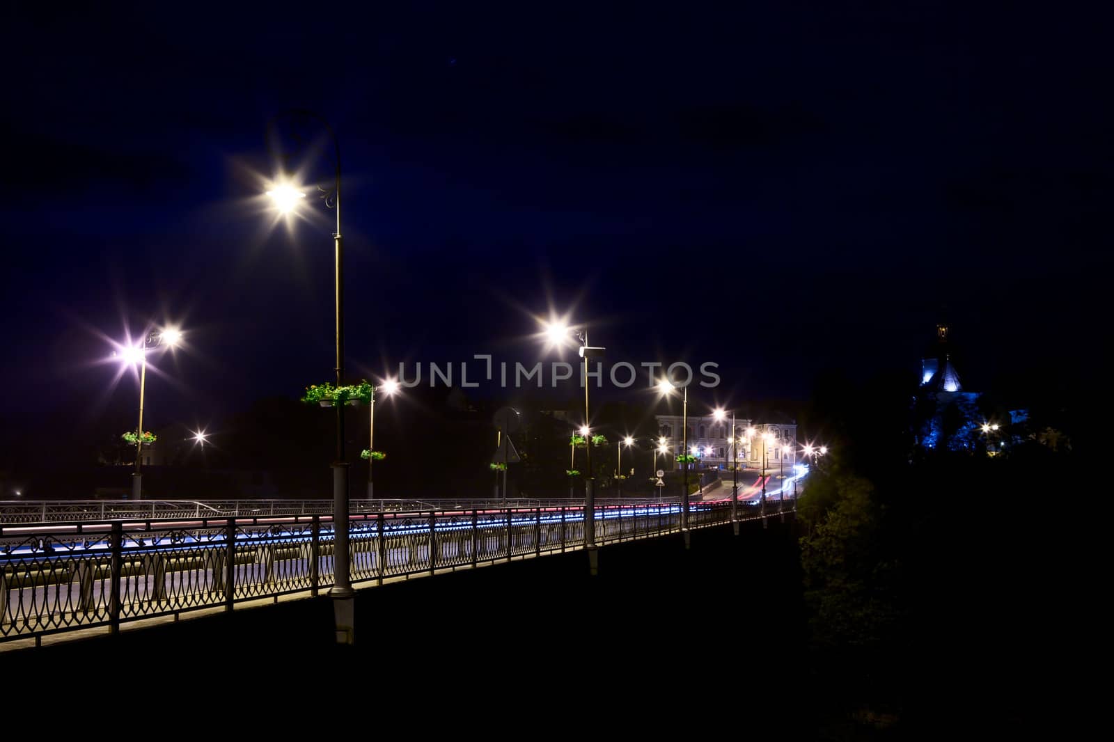
[[[310,198],[287,231],[260,199],[291,107],[340,138],[353,378],[550,360],[549,307],[612,360],[717,362],[721,401],[916,374],[941,313],[968,388],[1096,378],[1114,127],[1091,19],[404,4],[6,3],[6,440],[130,410],[98,360],[148,323],[189,345],[148,378],[153,426],[330,379],[332,213]]]

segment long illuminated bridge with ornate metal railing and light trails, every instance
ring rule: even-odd
[[[795,510],[741,495],[735,520]],[[0,646],[78,629],[315,596],[333,579],[332,500],[0,505]],[[600,546],[682,531],[675,499],[597,502]],[[695,501],[687,529],[732,521]],[[584,548],[579,500],[354,500],[356,587]],[[25,643],[20,642],[20,643]]]

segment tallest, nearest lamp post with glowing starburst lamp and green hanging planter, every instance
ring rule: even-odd
[[[344,240],[341,236],[341,147],[333,127],[321,115],[304,109],[287,111],[294,121],[312,119],[325,127],[333,143],[335,180],[333,189],[323,191],[325,206],[336,211],[336,231],[333,232],[333,314],[335,320],[336,358],[333,370],[336,385],[344,384]],[[274,120],[272,120],[272,125]],[[299,137],[301,138],[301,137]],[[280,184],[267,191],[275,206],[284,214],[294,211],[305,194],[290,184]],[[344,404],[334,403],[336,412],[336,456],[333,469],[333,586],[329,589],[333,598],[336,619],[336,642],[352,644],[355,593],[351,583],[351,554],[349,551],[349,463],[344,455]]]

